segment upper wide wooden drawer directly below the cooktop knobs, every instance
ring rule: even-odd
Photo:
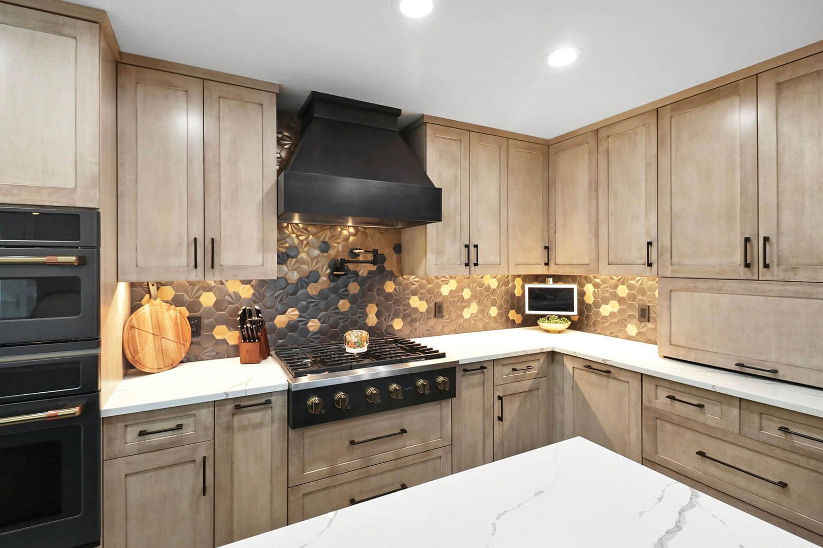
[[[289,485],[451,443],[451,400],[289,430]]]

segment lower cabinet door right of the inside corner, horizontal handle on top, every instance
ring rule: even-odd
[[[640,374],[568,355],[563,360],[565,438],[582,436],[641,462]]]

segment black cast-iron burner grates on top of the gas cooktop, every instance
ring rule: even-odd
[[[345,351],[342,343],[328,342],[305,346],[275,348],[272,354],[289,369],[295,378],[305,375],[332,373],[375,365],[402,364],[408,361],[444,358],[444,352],[436,351],[409,339],[386,337],[372,339],[369,350],[360,354]]]

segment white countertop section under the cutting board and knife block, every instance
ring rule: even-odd
[[[192,361],[152,374],[133,369],[113,391],[100,393],[100,413],[126,415],[277,392],[288,386],[286,375],[272,358],[259,364],[241,364],[239,358]]]

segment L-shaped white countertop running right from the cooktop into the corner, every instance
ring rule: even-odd
[[[461,364],[482,360],[556,351],[598,361],[642,374],[667,378],[730,396],[823,417],[823,390],[770,378],[670,360],[658,355],[658,346],[572,331],[549,333],[540,327],[515,327],[455,335],[422,337],[415,341],[444,351]]]

